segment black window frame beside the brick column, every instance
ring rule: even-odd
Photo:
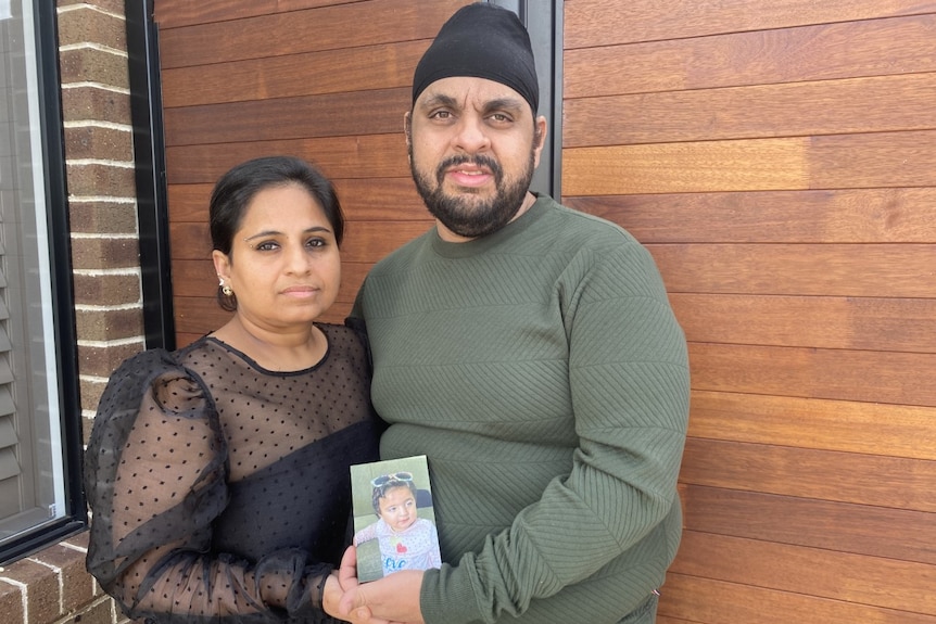
[[[38,74],[38,131],[46,192],[49,279],[52,332],[55,340],[60,444],[62,445],[62,487],[65,510],[56,520],[25,530],[0,545],[0,564],[22,559],[50,544],[84,531],[88,525],[87,506],[81,487],[81,409],[78,382],[78,344],[72,279],[72,244],[65,168],[65,138],[62,117],[62,86],[59,73],[58,13],[54,2],[31,3]]]

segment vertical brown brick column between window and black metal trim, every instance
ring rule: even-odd
[[[87,432],[111,371],[143,348],[123,1],[60,0],[59,44]]]

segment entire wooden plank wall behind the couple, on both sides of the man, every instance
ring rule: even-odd
[[[226,318],[205,209],[244,158],[336,179],[329,320],[429,227],[402,116],[464,3],[155,0],[180,345]],[[936,2],[566,0],[564,47],[564,201],[649,247],[690,341],[658,622],[936,623]]]

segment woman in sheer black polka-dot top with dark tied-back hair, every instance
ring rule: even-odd
[[[299,158],[243,163],[211,199],[229,322],[124,362],[86,451],[87,564],[155,624],[327,622],[347,543],[349,466],[377,459],[363,340],[334,302],[344,221]]]

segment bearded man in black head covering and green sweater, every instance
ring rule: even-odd
[[[352,317],[381,457],[429,457],[444,563],[356,586],[350,550],[345,613],[655,621],[682,529],[685,339],[644,247],[529,191],[537,93],[526,30],[490,4],[416,68],[406,141],[437,224],[375,266]]]

